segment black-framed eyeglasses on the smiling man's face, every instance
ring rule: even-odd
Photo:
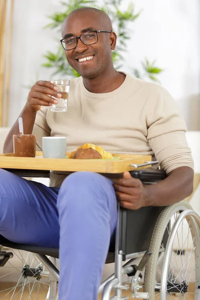
[[[107,30],[92,30],[89,32],[84,32],[80,34],[79,36],[69,36],[62,38],[60,40],[62,47],[64,50],[71,50],[76,47],[78,38],[85,44],[85,45],[92,45],[98,41],[98,32],[108,32],[110,33],[111,31]]]

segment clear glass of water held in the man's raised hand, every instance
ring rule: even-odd
[[[55,79],[50,80],[51,83],[57,85],[58,90],[57,92],[61,93],[61,98],[55,98],[58,101],[57,104],[52,104],[50,106],[50,111],[62,112],[67,111],[67,100],[68,100],[68,93],[69,93],[69,80],[65,79]]]

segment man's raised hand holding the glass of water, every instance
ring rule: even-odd
[[[52,103],[57,104],[57,100],[50,97],[61,98],[61,94],[57,92],[58,87],[50,81],[37,81],[28,93],[26,106],[32,111],[37,111],[42,106],[51,106]]]

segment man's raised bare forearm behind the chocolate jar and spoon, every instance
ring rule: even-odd
[[[35,121],[36,111],[32,111],[25,105],[19,116],[21,116],[23,119],[23,133],[31,134]],[[15,121],[5,139],[3,153],[13,152],[13,134],[19,134],[18,119]]]

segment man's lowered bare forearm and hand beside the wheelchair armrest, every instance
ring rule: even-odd
[[[142,185],[129,172],[113,184],[119,203],[129,209],[142,206],[166,206],[183,200],[192,193],[193,170],[180,166],[170,171],[167,177],[156,184]]]

